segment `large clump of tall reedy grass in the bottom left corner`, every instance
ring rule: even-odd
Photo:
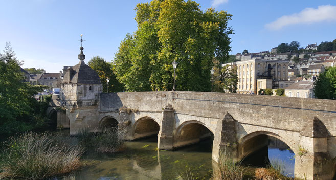
[[[83,148],[62,143],[59,136],[28,132],[2,143],[0,178],[44,179],[80,167]]]

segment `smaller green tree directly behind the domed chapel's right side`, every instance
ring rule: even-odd
[[[123,90],[122,85],[112,72],[113,65],[106,62],[104,58],[99,56],[92,57],[90,61],[88,61],[88,65],[95,70],[100,77],[100,81],[103,84],[103,92],[107,92],[107,78],[109,78],[108,92],[121,92]]]

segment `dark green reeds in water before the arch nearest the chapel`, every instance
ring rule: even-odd
[[[124,131],[119,131],[117,127],[105,128],[103,131],[89,132],[88,128],[77,132],[78,141],[81,145],[94,148],[98,152],[120,152],[124,149]]]

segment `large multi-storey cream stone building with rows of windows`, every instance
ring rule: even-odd
[[[288,61],[249,59],[237,61],[237,93],[257,94],[262,87],[277,89],[289,86]],[[262,80],[267,79],[267,80]],[[260,83],[257,84],[257,81]]]

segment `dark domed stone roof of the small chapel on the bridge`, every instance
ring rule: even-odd
[[[84,61],[80,61],[73,68],[66,70],[63,83],[101,84],[101,81],[95,70],[86,65]]]

